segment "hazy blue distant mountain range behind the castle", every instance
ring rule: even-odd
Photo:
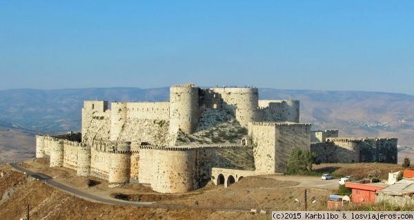
[[[342,137],[397,137],[414,146],[414,96],[366,91],[259,89],[259,99],[300,100],[300,122],[313,130],[339,129]],[[0,121],[33,133],[81,130],[83,100],[166,102],[169,87],[156,89],[10,89],[0,91]]]

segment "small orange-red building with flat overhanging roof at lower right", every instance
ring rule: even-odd
[[[352,189],[352,201],[355,203],[375,203],[375,192],[386,188],[384,183],[371,183],[371,179],[346,182],[345,187]]]

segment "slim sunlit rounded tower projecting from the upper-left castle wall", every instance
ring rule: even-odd
[[[110,140],[118,140],[126,122],[126,102],[112,102]]]

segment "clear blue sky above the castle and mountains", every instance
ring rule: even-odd
[[[0,89],[414,95],[414,1],[121,2],[0,0]]]

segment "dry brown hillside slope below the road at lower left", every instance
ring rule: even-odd
[[[94,203],[0,166],[1,219],[268,219],[267,215],[214,210],[137,208]],[[259,217],[259,218],[258,218]]]

